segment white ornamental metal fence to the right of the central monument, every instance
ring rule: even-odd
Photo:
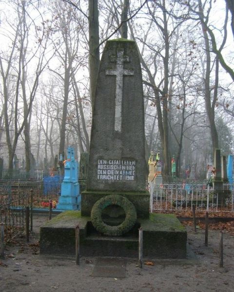
[[[150,183],[150,210],[234,212],[234,185],[213,190],[206,184]]]

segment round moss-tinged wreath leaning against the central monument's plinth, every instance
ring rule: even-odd
[[[101,212],[109,205],[118,205],[125,212],[125,220],[117,225],[110,226],[101,219]],[[137,211],[134,204],[127,198],[120,195],[108,195],[98,200],[91,211],[91,221],[94,227],[104,235],[120,236],[128,232],[136,223]]]

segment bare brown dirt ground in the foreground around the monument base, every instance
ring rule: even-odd
[[[34,215],[30,242],[25,236],[6,247],[0,259],[0,292],[233,292],[234,236],[224,231],[223,268],[219,267],[219,231],[186,226],[191,255],[183,260],[147,259],[153,265],[140,269],[137,259],[127,259],[126,277],[91,276],[96,258],[48,258],[39,256],[39,226],[47,216]],[[146,259],[144,260],[146,262]]]

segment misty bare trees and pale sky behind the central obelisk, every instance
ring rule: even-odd
[[[217,3],[218,2],[218,3]],[[30,170],[89,150],[100,56],[109,38],[136,40],[146,152],[164,177],[205,171],[233,151],[234,6],[230,0],[7,0],[0,3],[0,156]],[[219,16],[218,19],[216,16]],[[104,109],[103,109],[104,110]]]

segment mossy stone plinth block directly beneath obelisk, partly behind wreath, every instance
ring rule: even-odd
[[[81,216],[91,216],[93,205],[102,197],[108,195],[120,195],[131,201],[136,210],[137,218],[149,218],[150,193],[144,192],[101,192],[84,191],[81,194]]]

